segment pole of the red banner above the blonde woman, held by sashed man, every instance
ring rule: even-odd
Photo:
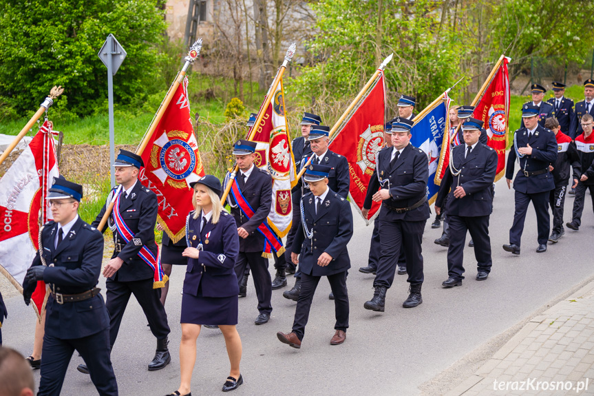
[[[159,109],[157,110],[155,116],[153,117],[153,120],[151,121],[149,127],[147,128],[147,132],[145,132],[145,136],[142,137],[142,141],[140,142],[140,145],[138,145],[138,147],[136,147],[136,154],[141,153],[149,144],[149,140],[150,140],[151,136],[153,136],[153,132],[155,132],[155,128],[157,127],[159,121],[161,121],[163,114],[165,114],[165,110],[167,110],[167,106],[169,106],[169,103],[171,103],[171,99],[173,99],[173,94],[176,93],[176,91],[178,90],[178,87],[180,86],[182,81],[184,81],[184,77],[186,76],[188,67],[192,63],[194,63],[196,58],[198,58],[198,55],[200,55],[200,50],[202,50],[202,39],[196,40],[195,43],[193,43],[192,46],[190,47],[190,50],[184,59],[185,63],[182,66],[182,70],[180,70],[180,72],[178,72],[176,79],[174,79],[173,83],[171,83],[171,86],[169,87],[169,91],[167,91],[165,98],[163,98],[163,101],[161,102]],[[112,214],[114,205],[116,205],[116,196],[117,196],[118,191],[120,191],[120,189],[121,189],[121,186],[118,187],[116,194],[114,194],[114,198],[112,199],[112,202],[109,202],[109,205],[105,208],[105,213],[103,213],[103,218],[101,218],[101,221],[99,222],[99,225],[97,226],[98,230],[103,231],[103,227],[105,227],[105,223],[107,223],[107,218],[109,218],[109,215]]]

